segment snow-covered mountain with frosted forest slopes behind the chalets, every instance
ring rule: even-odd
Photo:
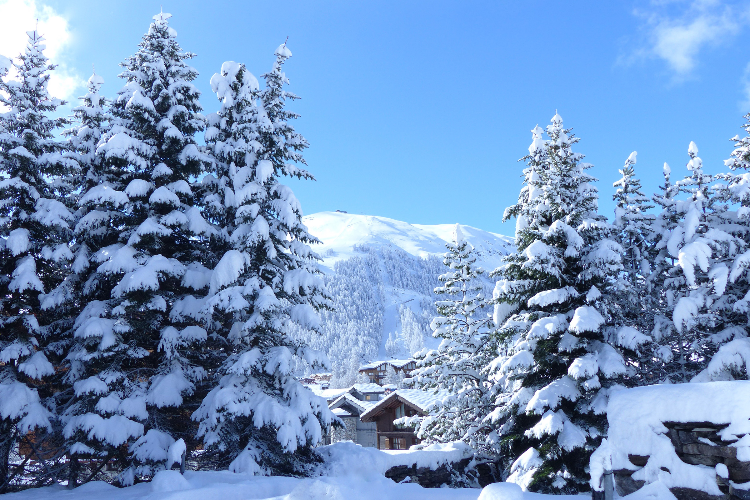
[[[432,290],[445,272],[443,253],[454,224],[425,226],[341,212],[303,220],[322,241],[313,249],[323,257],[320,268],[335,310],[323,313],[322,336],[302,335],[329,355],[335,376],[346,379],[341,382],[353,382],[362,361],[437,346],[429,330],[435,313]],[[471,226],[461,230],[486,271],[496,268],[513,247],[507,236]],[[485,285],[490,293],[493,281],[487,279]]]

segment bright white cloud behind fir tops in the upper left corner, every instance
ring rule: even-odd
[[[37,29],[46,44],[44,53],[52,64],[58,64],[49,79],[49,93],[65,100],[75,99],[86,81],[66,66],[65,50],[72,41],[68,20],[37,0],[0,0],[0,12],[0,54],[12,58],[23,52],[28,40],[26,31],[33,30],[38,19]]]

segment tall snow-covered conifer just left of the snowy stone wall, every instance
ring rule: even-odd
[[[590,165],[571,149],[579,139],[557,114],[546,141],[538,127],[532,133],[526,185],[503,217],[517,218],[517,250],[493,271],[502,278],[496,301],[520,310],[497,333],[509,357],[490,364],[505,394],[490,414],[499,429],[487,445],[508,466],[533,464],[508,481],[544,493],[583,491],[588,457],[605,430],[607,391],[626,371],[604,341],[622,247],[597,213]]]

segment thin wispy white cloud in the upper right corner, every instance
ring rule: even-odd
[[[703,49],[727,42],[748,24],[750,7],[720,0],[662,0],[635,14],[645,21],[648,43],[637,55],[662,59],[679,80],[691,75]]]

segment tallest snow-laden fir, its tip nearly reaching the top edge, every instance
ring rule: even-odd
[[[206,376],[199,310],[216,229],[193,206],[189,183],[202,170],[193,135],[204,118],[193,54],[181,50],[169,17],[154,16],[121,64],[125,84],[76,226],[86,305],[67,356],[74,400],[65,438],[71,456],[118,460],[121,484],[169,467],[169,449],[193,439],[190,412]]]

